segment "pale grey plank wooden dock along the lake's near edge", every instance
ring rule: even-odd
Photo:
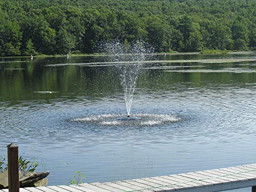
[[[106,183],[25,187],[20,192],[214,192],[252,187],[256,192],[256,164]],[[8,191],[2,189],[0,192]]]

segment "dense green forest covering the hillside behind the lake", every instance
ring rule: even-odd
[[[255,50],[255,0],[1,0],[0,56],[97,53],[140,39],[156,52]]]

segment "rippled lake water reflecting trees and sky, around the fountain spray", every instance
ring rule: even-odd
[[[156,56],[139,76],[133,122],[116,120],[126,108],[106,60],[0,58],[0,156],[18,143],[50,171],[48,185],[76,170],[107,182],[256,162],[255,53]]]

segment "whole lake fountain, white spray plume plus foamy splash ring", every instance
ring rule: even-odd
[[[143,41],[134,41],[129,45],[124,45],[123,42],[114,40],[101,42],[98,47],[101,52],[107,54],[107,56],[104,57],[104,62],[101,62],[100,64],[108,63],[109,65],[114,66],[116,72],[119,74],[127,114],[89,115],[86,117],[68,119],[68,121],[78,123],[95,123],[104,126],[154,126],[183,120],[179,116],[170,114],[138,113],[133,114],[133,116],[131,115],[133,94],[139,74],[144,72],[142,68],[147,65],[147,61],[155,59],[153,58],[155,56],[152,54],[153,49],[151,46]]]

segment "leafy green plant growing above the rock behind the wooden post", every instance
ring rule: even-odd
[[[38,162],[28,161],[24,157],[20,156],[18,159],[19,170],[26,170],[28,172],[34,172],[35,168],[38,166]],[[5,172],[8,169],[8,164],[5,162],[5,157],[0,157],[0,173]]]

